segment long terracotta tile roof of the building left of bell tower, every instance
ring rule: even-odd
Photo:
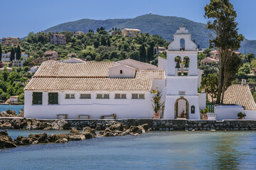
[[[149,91],[152,79],[164,71],[137,71],[135,78],[109,78],[112,62],[43,62],[24,90],[35,91]]]

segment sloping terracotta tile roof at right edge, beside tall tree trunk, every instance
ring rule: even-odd
[[[211,101],[210,97],[208,99]],[[245,110],[256,110],[256,104],[248,85],[233,84],[225,91],[223,104],[235,103],[243,106]]]

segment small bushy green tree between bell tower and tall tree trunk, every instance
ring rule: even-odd
[[[214,103],[214,98],[218,92],[218,77],[215,74],[208,74],[208,77],[204,75],[201,80],[201,89],[206,89],[206,94],[211,98]]]

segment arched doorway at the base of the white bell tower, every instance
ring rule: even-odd
[[[183,98],[183,96],[181,96],[181,98],[178,98],[175,102],[175,118],[189,118],[188,115],[188,108],[189,108],[189,104],[188,104],[188,100],[186,98]],[[183,114],[183,116],[182,116]]]

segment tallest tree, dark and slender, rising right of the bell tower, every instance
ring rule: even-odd
[[[215,38],[209,40],[210,47],[215,47],[219,61],[219,84],[218,84],[218,96],[216,103],[223,103],[221,96],[224,96],[225,90],[231,84],[227,79],[229,72],[238,70],[237,68],[231,69],[228,67],[230,64],[230,58],[233,57],[233,51],[240,48],[240,42],[243,40],[243,36],[238,35],[238,23],[235,22],[237,16],[233,5],[229,0],[210,0],[210,4],[205,6],[205,18],[209,18],[206,28],[212,30],[215,33]],[[236,65],[238,66],[238,65]]]

